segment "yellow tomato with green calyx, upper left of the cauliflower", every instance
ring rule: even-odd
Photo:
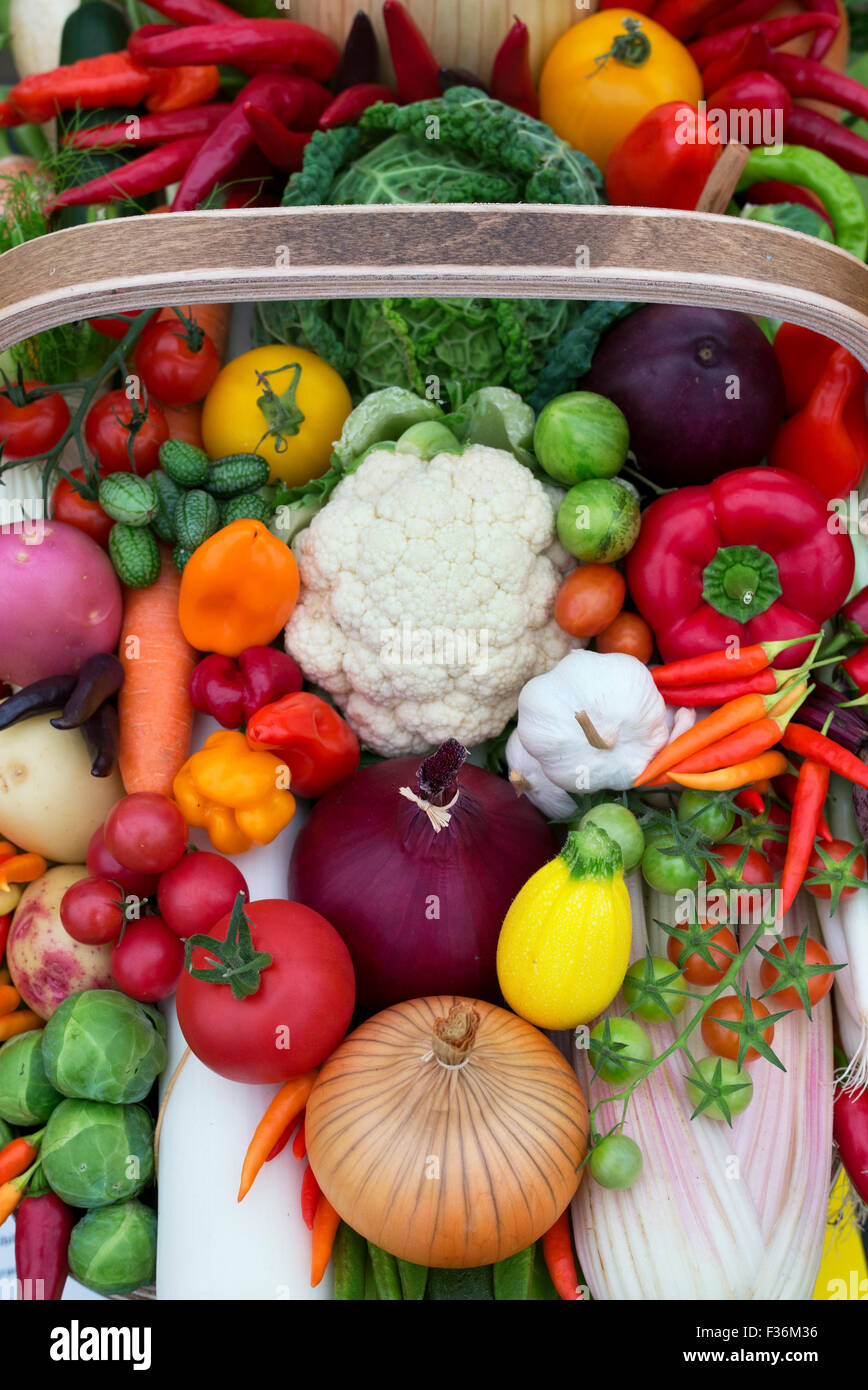
[[[202,439],[211,459],[260,453],[271,481],[298,486],[328,468],[352,410],[342,377],[305,348],[255,348],[227,363],[204,398]]]

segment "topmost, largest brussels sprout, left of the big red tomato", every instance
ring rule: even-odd
[[[42,1037],[51,1086],[85,1101],[142,1101],[166,1066],[150,1013],[118,990],[82,990],[54,1011]]]

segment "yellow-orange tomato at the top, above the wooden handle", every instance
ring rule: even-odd
[[[625,19],[638,22],[633,36]],[[574,24],[548,54],[540,115],[605,172],[615,146],[655,106],[696,106],[701,96],[700,70],[683,43],[634,10],[604,10]]]

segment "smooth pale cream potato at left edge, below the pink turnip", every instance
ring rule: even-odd
[[[95,830],[124,795],[120,773],[90,776],[78,728],[51,714],[0,730],[0,837],[60,863],[83,863]]]

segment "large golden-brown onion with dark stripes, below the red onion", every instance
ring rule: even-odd
[[[470,1269],[526,1250],[565,1211],[587,1105],[545,1034],[474,999],[466,1062],[431,1052],[456,995],[369,1019],[328,1058],[305,1113],[317,1183],[344,1220],[419,1265]]]

